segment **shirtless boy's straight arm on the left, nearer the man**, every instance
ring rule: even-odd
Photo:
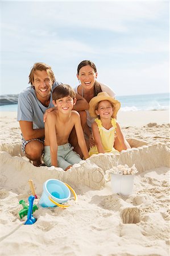
[[[51,155],[51,165],[57,167],[57,137],[56,137],[56,126],[55,126],[56,117],[55,114],[49,113],[47,120],[45,122],[45,129],[47,127],[48,133],[45,133],[47,141],[49,141],[50,146],[50,155]]]

